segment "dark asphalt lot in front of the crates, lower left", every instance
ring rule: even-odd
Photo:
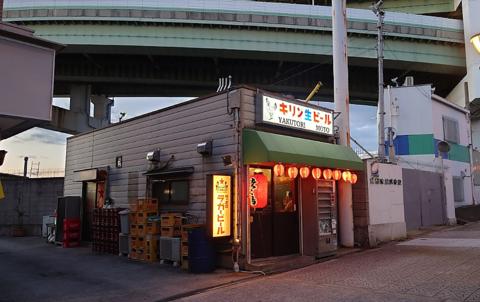
[[[0,237],[0,302],[160,301],[251,278],[219,271],[188,274],[159,263],[63,249],[40,238]]]

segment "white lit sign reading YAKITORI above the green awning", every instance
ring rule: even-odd
[[[333,135],[333,111],[296,100],[258,94],[257,123]]]

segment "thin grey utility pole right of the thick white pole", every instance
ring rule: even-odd
[[[377,58],[378,58],[378,159],[385,161],[385,105],[383,96],[383,19],[385,11],[382,8],[383,0],[372,6],[377,20]]]

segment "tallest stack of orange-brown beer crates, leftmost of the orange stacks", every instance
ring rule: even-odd
[[[130,206],[129,258],[148,262],[158,261],[160,221],[156,199],[139,199]]]

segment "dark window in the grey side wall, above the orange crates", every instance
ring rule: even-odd
[[[188,203],[188,180],[156,180],[152,182],[152,197],[160,204]]]

